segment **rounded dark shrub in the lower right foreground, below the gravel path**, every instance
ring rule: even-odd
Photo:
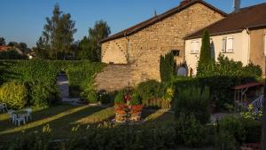
[[[246,139],[246,130],[241,120],[233,115],[226,116],[219,123],[220,131],[227,131],[234,136],[239,142],[243,142]]]

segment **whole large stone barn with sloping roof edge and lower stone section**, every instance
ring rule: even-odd
[[[184,0],[131,28],[102,40],[98,89],[119,90],[148,79],[160,80],[160,55],[174,51],[176,64],[184,63],[184,37],[205,28],[227,14],[203,0]]]

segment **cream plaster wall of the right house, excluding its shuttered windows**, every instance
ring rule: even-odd
[[[233,37],[233,52],[223,52],[223,38],[227,36]],[[219,53],[223,53],[229,59],[234,59],[235,61],[241,61],[244,66],[249,62],[249,35],[246,29],[240,33],[229,34],[223,36],[211,36],[210,37],[214,43],[215,60],[217,60]],[[193,75],[197,74],[197,64],[200,59],[200,51],[198,53],[192,53],[192,40],[199,40],[201,47],[201,38],[185,40],[185,61],[190,70],[192,68]],[[200,49],[200,48],[199,48]]]

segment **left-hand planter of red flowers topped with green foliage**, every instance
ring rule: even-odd
[[[124,93],[119,91],[114,98],[115,122],[127,121],[127,105],[125,104]]]

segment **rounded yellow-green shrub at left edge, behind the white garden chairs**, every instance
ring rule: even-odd
[[[12,109],[25,107],[27,105],[27,88],[19,82],[4,83],[0,87],[0,102]]]

